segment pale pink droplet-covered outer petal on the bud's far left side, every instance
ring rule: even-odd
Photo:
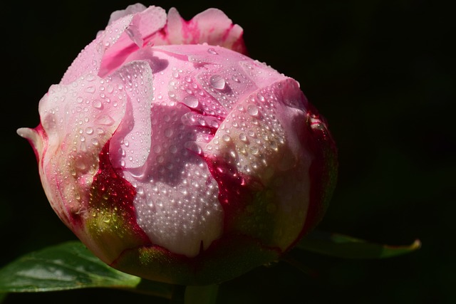
[[[84,208],[98,154],[123,116],[127,95],[110,78],[88,74],[69,85],[52,85],[40,103],[48,135],[45,170],[55,176],[71,212]],[[50,157],[50,158],[49,158]]]

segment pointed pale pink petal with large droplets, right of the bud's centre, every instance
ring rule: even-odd
[[[284,145],[284,130],[276,119],[274,87],[248,95],[238,103],[219,128],[206,149],[221,154],[225,162],[261,181],[274,173],[279,148]]]

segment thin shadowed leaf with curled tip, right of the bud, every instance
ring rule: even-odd
[[[299,241],[296,248],[338,258],[390,258],[410,253],[420,246],[421,242],[418,239],[410,245],[390,246],[343,234],[313,231]]]

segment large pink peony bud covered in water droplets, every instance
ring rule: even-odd
[[[299,83],[245,55],[218,9],[128,6],[39,103],[51,206],[105,263],[219,283],[274,261],[323,216],[336,147]]]

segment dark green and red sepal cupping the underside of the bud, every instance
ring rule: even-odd
[[[277,248],[264,247],[249,236],[232,235],[214,241],[194,258],[150,246],[125,250],[111,266],[152,281],[213,285],[276,261],[280,253]]]

